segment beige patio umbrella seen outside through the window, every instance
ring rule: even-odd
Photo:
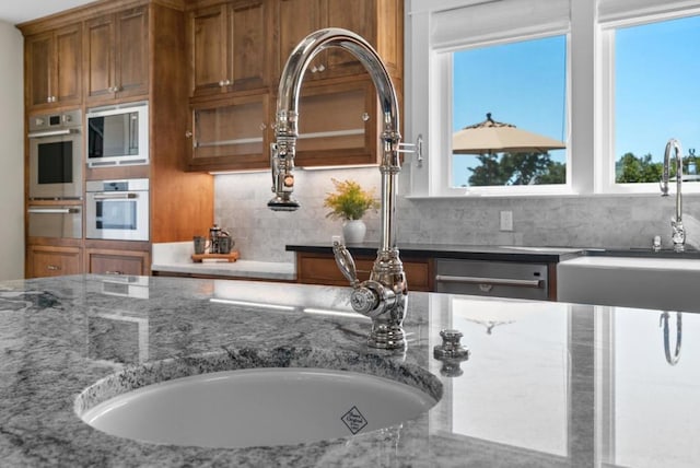
[[[559,140],[495,121],[491,113],[482,122],[465,127],[452,136],[452,152],[456,154],[544,153],[563,148],[567,145]]]

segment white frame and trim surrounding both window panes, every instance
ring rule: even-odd
[[[493,3],[498,3],[497,0]],[[523,0],[535,4],[538,0]],[[540,0],[541,1],[541,0]],[[599,0],[608,4],[627,0]],[[483,0],[406,0],[406,141],[423,138],[423,162],[407,159],[409,198],[522,197],[657,194],[656,184],[615,184],[614,28],[700,14],[700,2],[645,0],[644,8],[598,19],[596,1],[570,1],[569,27],[525,31],[521,35],[469,43],[480,46],[567,34],[567,183],[541,186],[450,187],[452,174],[452,52],[464,43],[435,46],[435,14],[485,3]],[[486,2],[488,3],[488,2]],[[608,5],[606,5],[608,7]],[[609,8],[609,7],[608,7]],[[660,144],[663,144],[661,142]],[[612,164],[610,166],[610,164]],[[612,169],[608,171],[609,167]],[[406,168],[406,167],[405,167]],[[686,190],[687,188],[687,190]],[[684,192],[700,192],[689,184]]]

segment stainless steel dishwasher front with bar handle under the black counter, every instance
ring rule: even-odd
[[[435,291],[547,301],[547,265],[436,258]]]

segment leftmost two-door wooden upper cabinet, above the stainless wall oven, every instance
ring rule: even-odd
[[[42,108],[80,104],[81,65],[80,24],[26,37],[27,106]]]

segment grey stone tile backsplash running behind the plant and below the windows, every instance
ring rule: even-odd
[[[340,221],[323,206],[331,178],[352,178],[378,197],[376,167],[296,171],[296,212],[273,212],[269,172],[217,175],[214,220],[236,241],[241,257],[292,261],[287,244],[328,243]],[[402,180],[401,180],[402,182]],[[557,247],[649,247],[655,235],[670,247],[675,198],[649,196],[433,198],[397,200],[398,243],[526,245]],[[513,212],[513,231],[502,232],[500,211]],[[366,241],[378,241],[380,215],[369,213]],[[687,244],[700,247],[700,197],[684,198]],[[206,233],[205,233],[206,234]]]

